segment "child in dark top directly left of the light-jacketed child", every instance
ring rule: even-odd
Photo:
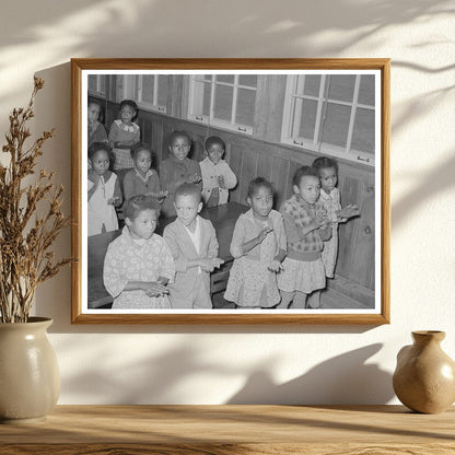
[[[162,212],[164,217],[175,215],[174,195],[182,184],[197,184],[200,188],[201,173],[199,163],[188,158],[191,139],[185,131],[174,131],[168,145],[170,158],[160,165],[161,188],[167,191]]]

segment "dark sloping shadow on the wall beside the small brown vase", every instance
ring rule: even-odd
[[[392,375],[381,370],[377,364],[365,363],[382,347],[383,345],[375,343],[337,355],[283,384],[276,384],[268,371],[257,371],[249,375],[242,390],[233,395],[226,404],[369,405],[387,402],[395,396]]]

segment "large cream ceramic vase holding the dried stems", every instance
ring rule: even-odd
[[[0,421],[44,420],[60,395],[57,357],[46,329],[52,319],[0,324]]]

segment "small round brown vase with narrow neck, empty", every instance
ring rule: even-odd
[[[417,412],[438,413],[455,401],[455,362],[441,349],[444,331],[412,331],[413,345],[398,352],[394,390]]]

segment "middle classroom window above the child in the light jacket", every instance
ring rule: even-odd
[[[252,135],[257,74],[195,74],[190,79],[189,118]]]

